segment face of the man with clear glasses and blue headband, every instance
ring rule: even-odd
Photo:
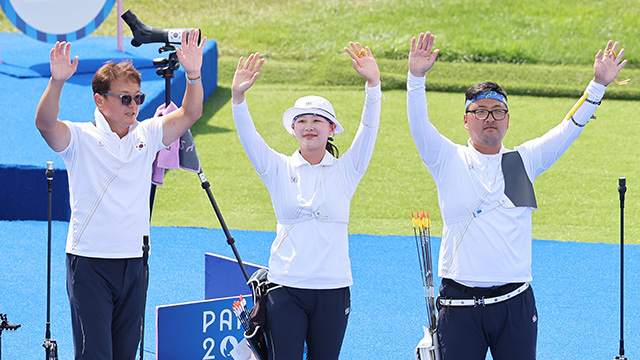
[[[494,118],[494,115],[500,118],[498,114],[489,114],[486,119],[480,120],[478,118],[481,116],[469,112],[476,110],[507,110],[507,106],[499,100],[481,99],[469,105],[464,115],[464,128],[471,135],[471,143],[476,150],[483,154],[497,154],[509,128],[509,114],[507,113],[502,120]]]

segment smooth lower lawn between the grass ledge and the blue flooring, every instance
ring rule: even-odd
[[[268,144],[285,154],[297,148],[295,139],[282,129],[284,109],[297,96],[318,94],[333,100],[345,133],[336,144],[345,151],[356,130],[362,90],[342,88],[294,88],[258,84],[247,94],[256,127]],[[271,230],[275,217],[266,188],[255,173],[238,141],[228,102],[230,90],[220,88],[207,103],[206,115],[194,126],[203,169],[230,228]],[[430,210],[434,233],[442,228],[437,194],[422,164],[408,129],[406,93],[386,91],[380,133],[373,159],[353,199],[350,232],[411,234],[412,209]],[[433,123],[444,135],[464,143],[460,94],[428,93]],[[511,126],[505,146],[512,148],[542,135],[556,125],[575,99],[514,96]],[[638,154],[629,141],[640,135],[630,126],[636,116],[629,102],[605,101],[597,120],[586,127],[567,153],[538,178],[535,189],[540,210],[534,212],[534,237],[571,241],[615,242],[618,234],[617,178],[626,176],[630,188],[640,181],[635,162]],[[213,114],[215,113],[215,114]],[[627,195],[627,241],[638,243],[638,202]],[[167,173],[154,209],[154,225],[217,227],[217,220],[196,176],[185,171]]]

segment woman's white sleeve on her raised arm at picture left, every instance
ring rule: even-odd
[[[240,143],[247,153],[253,168],[259,175],[264,175],[269,168],[271,158],[278,156],[278,153],[271,149],[260,134],[258,134],[251,114],[249,113],[246,99],[239,105],[232,104],[232,110],[233,121],[238,130]]]

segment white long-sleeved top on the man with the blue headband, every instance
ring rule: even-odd
[[[591,82],[589,100],[606,87]],[[484,155],[470,143],[454,144],[429,122],[425,78],[409,74],[407,109],[420,157],[435,180],[443,219],[438,275],[468,286],[531,281],[531,207],[514,207],[504,195],[502,153]],[[584,102],[574,120],[586,124],[596,105]],[[543,136],[516,146],[533,183],[580,135],[562,121]],[[475,214],[475,216],[474,216]]]

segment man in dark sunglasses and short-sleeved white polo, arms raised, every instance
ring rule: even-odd
[[[200,69],[207,39],[198,39],[198,31],[185,31],[176,49],[188,83],[182,107],[142,122],[137,117],[145,94],[130,61],[109,62],[95,73],[93,121],[59,120],[60,93],[78,57],[71,61],[71,44],[65,42],[50,52],[51,79],[35,121],[69,175],[67,293],[75,359],[135,358],[146,291],[142,237],[149,234],[152,163],[202,115]]]

